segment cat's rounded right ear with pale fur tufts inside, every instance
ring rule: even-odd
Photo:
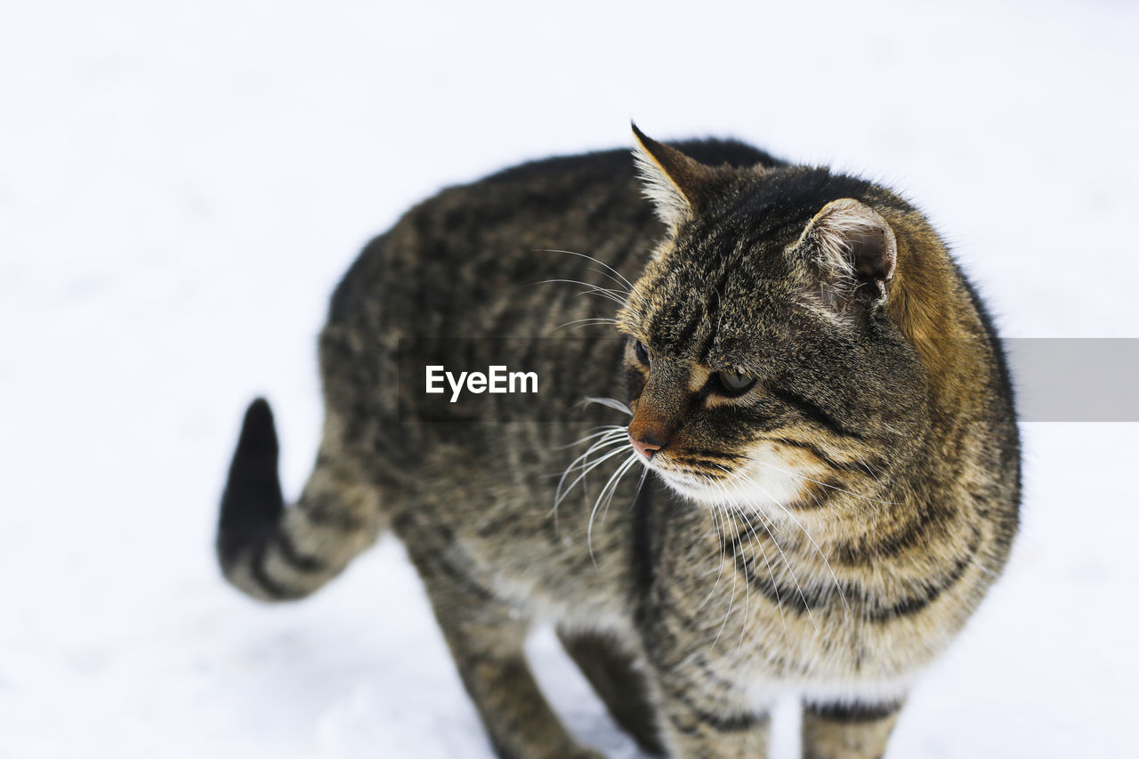
[[[884,303],[898,267],[898,240],[882,215],[853,198],[825,205],[794,248],[818,272],[822,297],[836,312],[860,317]]]

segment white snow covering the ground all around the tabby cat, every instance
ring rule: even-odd
[[[296,493],[360,245],[518,162],[731,134],[901,188],[1008,335],[1139,337],[1139,8],[9,3],[0,27],[0,757],[489,757],[385,539],[302,604],[213,563],[244,405]],[[1133,753],[1137,425],[1025,424],[1006,577],[893,757]],[[634,757],[548,632],[567,723]],[[773,756],[796,746],[792,711]]]

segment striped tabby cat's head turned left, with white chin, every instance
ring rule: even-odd
[[[872,489],[926,423],[924,366],[887,309],[916,211],[827,169],[708,166],[633,129],[669,229],[617,317],[633,446],[706,503],[809,508],[855,473]]]

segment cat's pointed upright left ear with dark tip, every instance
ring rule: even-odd
[[[645,185],[645,195],[656,206],[656,213],[670,228],[677,229],[699,211],[700,189],[713,170],[689,158],[674,147],[648,137],[637,124],[633,156]]]

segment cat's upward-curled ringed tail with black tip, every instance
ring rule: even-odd
[[[218,522],[218,560],[235,587],[262,601],[303,598],[375,542],[379,497],[326,422],[317,465],[296,505],[277,478],[277,432],[264,399],[245,413]]]

